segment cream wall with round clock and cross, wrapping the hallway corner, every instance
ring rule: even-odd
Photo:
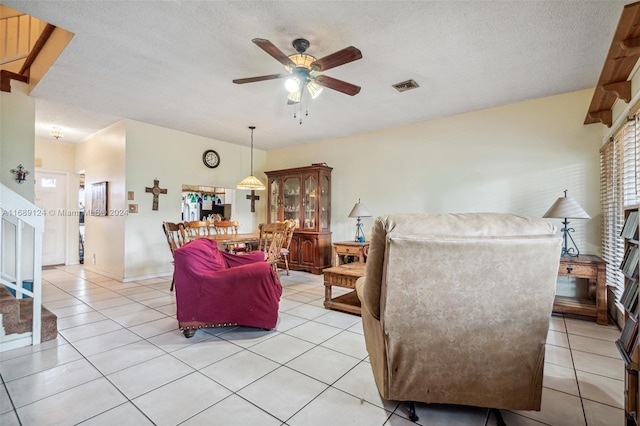
[[[221,163],[209,169],[202,163],[206,149],[220,154]],[[180,222],[182,184],[235,188],[249,174],[249,146],[239,146],[166,129],[132,120],[124,120],[92,136],[76,151],[76,169],[86,171],[87,207],[90,208],[91,183],[108,180],[112,216],[86,220],[85,265],[114,277],[130,281],[172,272],[171,252],[162,222]],[[254,149],[254,171],[262,173],[265,152]],[[152,210],[153,195],[145,192],[159,180],[167,194],[159,195],[158,210]],[[128,191],[134,199],[127,200]],[[250,212],[248,191],[236,190],[233,220],[239,231],[255,232],[264,221],[264,197]],[[264,201],[263,201],[264,200]],[[129,204],[138,205],[138,213],[128,213]],[[119,215],[119,216],[118,216]],[[91,259],[96,254],[96,264]]]

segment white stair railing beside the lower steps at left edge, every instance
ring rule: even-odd
[[[0,184],[0,215],[0,284],[13,289],[16,299],[33,298],[31,337],[3,344],[2,350],[38,345],[42,328],[44,211]],[[31,289],[24,287],[25,273],[33,280]]]

